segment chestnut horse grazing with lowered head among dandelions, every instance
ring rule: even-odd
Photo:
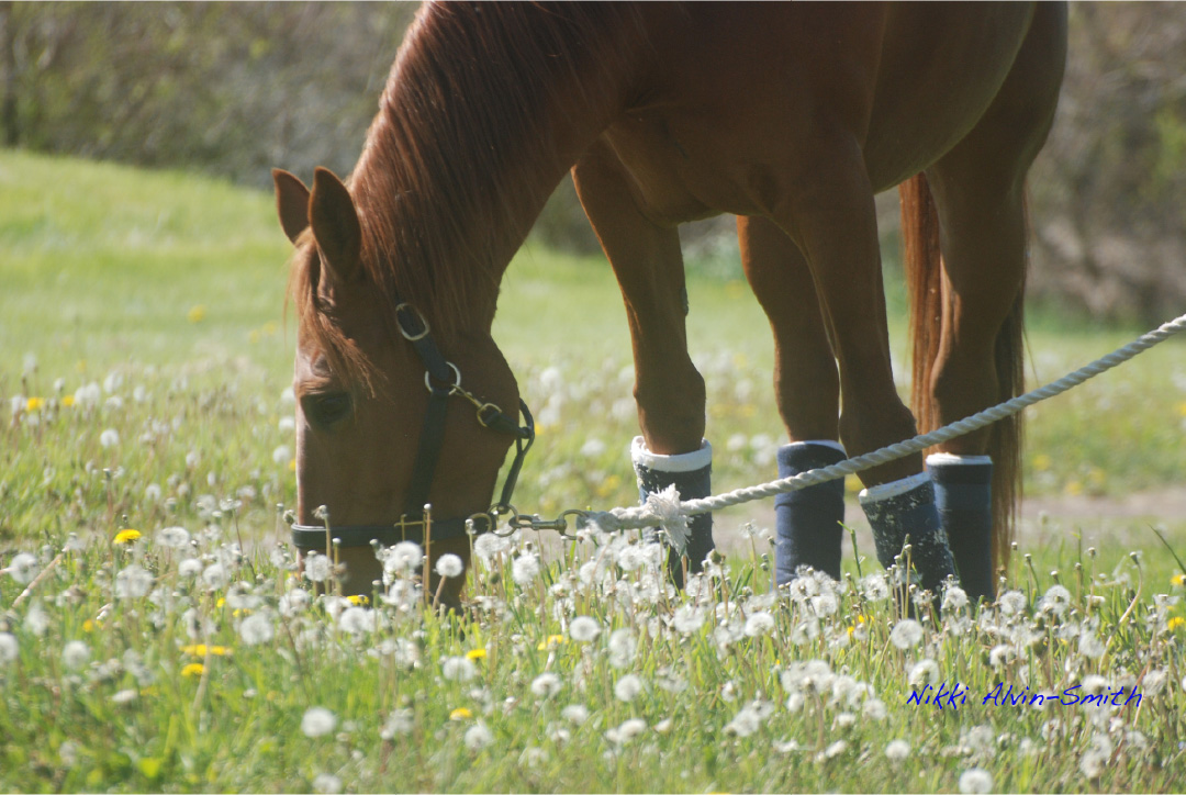
[[[704,447],[677,224],[715,214],[738,216],[791,443],[860,454],[913,435],[916,414],[931,427],[1016,394],[1024,183],[1065,21],[1044,2],[426,4],[350,178],[274,172],[296,247],[298,546],[325,549],[325,505],[349,536],[347,592],[370,591],[368,542],[393,527],[468,561],[458,528],[530,441],[491,338],[499,281],[569,170],[621,287],[638,444],[659,468]],[[891,371],[873,201],[903,183],[914,414]],[[1016,449],[1008,425],[943,446],[995,460],[997,562]],[[913,456],[861,477],[872,492],[920,473]],[[962,574],[991,566],[987,532],[946,528]]]

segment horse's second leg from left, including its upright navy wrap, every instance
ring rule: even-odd
[[[739,216],[738,241],[746,279],[774,335],[774,398],[790,438],[778,450],[778,477],[843,460],[840,377],[806,260],[767,218]],[[776,581],[791,581],[801,566],[840,579],[843,521],[843,481],[776,497]]]

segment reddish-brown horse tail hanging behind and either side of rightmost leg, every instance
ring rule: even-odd
[[[901,202],[904,265],[910,294],[910,329],[913,343],[911,407],[919,431],[939,425],[938,406],[931,394],[931,370],[938,358],[944,295],[943,259],[939,252],[939,217],[926,177],[919,173],[898,186]],[[1021,394],[1025,381],[1025,325],[1022,297],[1018,290],[1013,309],[996,337],[995,364],[1000,401]],[[1008,564],[1016,504],[1021,496],[1021,415],[1001,420],[989,430],[988,454],[993,458],[993,561]]]

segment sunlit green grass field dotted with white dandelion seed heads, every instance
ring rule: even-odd
[[[1047,516],[1020,538],[1014,596],[918,625],[867,543],[847,583],[774,599],[763,527],[727,513],[728,558],[682,594],[637,545],[516,538],[483,551],[464,622],[422,610],[395,562],[374,605],[308,603],[276,510],[294,502],[287,254],[268,196],[0,151],[0,789],[1186,786],[1181,572],[1149,529],[1182,554],[1182,516]],[[766,324],[691,265],[714,485],[771,479]],[[541,424],[521,508],[633,502],[608,267],[529,244],[500,306]],[[1033,383],[1139,332],[1035,312]],[[1090,511],[1180,488],[1182,345],[1028,418],[1029,495]],[[957,680],[957,710],[908,702]],[[982,702],[999,682],[1142,702]]]

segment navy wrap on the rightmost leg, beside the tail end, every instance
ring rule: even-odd
[[[993,460],[988,456],[937,453],[926,459],[926,468],[959,584],[973,604],[981,597],[991,602]]]

